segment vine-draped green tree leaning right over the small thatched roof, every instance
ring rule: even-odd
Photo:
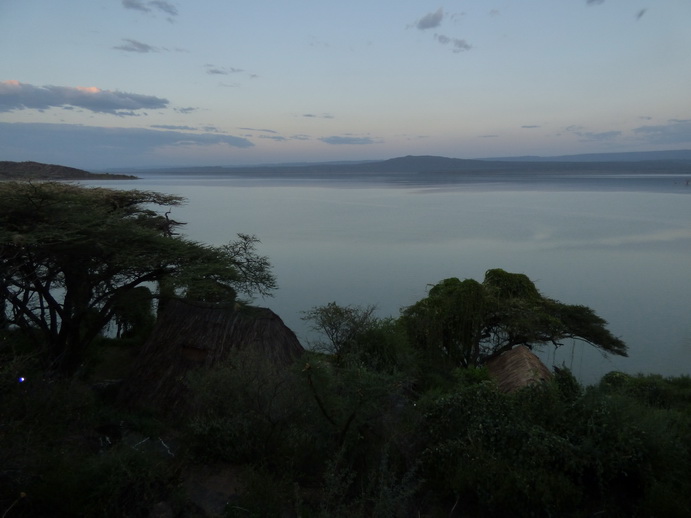
[[[502,269],[488,270],[482,283],[445,279],[401,318],[415,347],[453,366],[478,365],[516,345],[559,346],[568,338],[627,355],[626,344],[592,309],[544,297],[527,276]]]

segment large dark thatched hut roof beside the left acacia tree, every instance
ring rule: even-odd
[[[186,374],[251,352],[278,370],[303,353],[295,333],[267,308],[170,301],[123,384],[126,404],[181,410]]]

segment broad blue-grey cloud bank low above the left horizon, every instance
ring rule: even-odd
[[[0,156],[4,160],[34,160],[86,169],[141,166],[152,160],[160,162],[167,150],[219,146],[246,149],[254,144],[218,133],[0,122]]]

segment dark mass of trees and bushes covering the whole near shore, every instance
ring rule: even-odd
[[[191,410],[171,416],[123,405],[104,380],[127,377],[170,297],[237,304],[272,289],[256,239],[189,242],[155,211],[182,200],[155,193],[0,196],[2,518],[691,515],[691,378],[612,372],[583,387],[558,369],[498,389],[484,362],[515,344],[575,336],[626,352],[589,308],[523,275],[441,281],[399,318],[312,308],[313,351],[190,371]],[[204,470],[224,475],[213,509],[194,485]]]

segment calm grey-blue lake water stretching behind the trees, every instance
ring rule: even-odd
[[[90,182],[85,182],[90,183]],[[279,290],[255,301],[306,344],[300,312],[375,304],[398,315],[447,277],[527,274],[540,291],[592,307],[630,347],[603,358],[566,343],[549,364],[585,383],[610,370],[691,374],[691,187],[673,177],[412,185],[150,176],[101,184],[180,194],[191,239],[256,234]]]

